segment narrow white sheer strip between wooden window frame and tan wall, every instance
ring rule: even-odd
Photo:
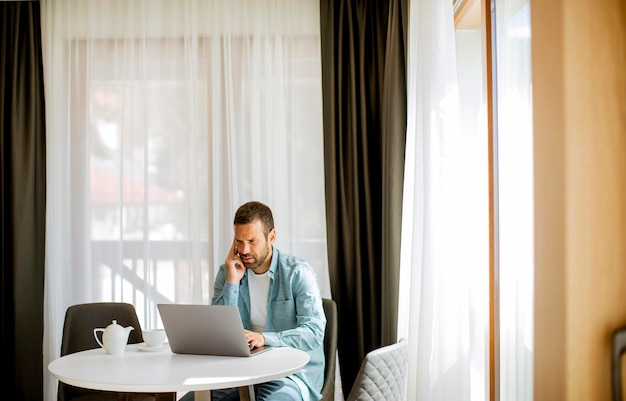
[[[533,399],[530,3],[497,0],[500,399]]]

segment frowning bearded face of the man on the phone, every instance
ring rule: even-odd
[[[239,257],[244,266],[248,269],[256,270],[263,265],[272,252],[272,243],[275,238],[276,231],[274,229],[265,238],[263,223],[258,219],[250,224],[235,225],[237,252],[239,252]]]

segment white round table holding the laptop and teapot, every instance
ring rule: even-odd
[[[288,376],[309,362],[306,352],[289,347],[251,357],[142,349],[128,345],[121,355],[107,355],[102,348],[77,352],[52,361],[48,370],[60,381],[83,388],[165,393],[250,386]]]

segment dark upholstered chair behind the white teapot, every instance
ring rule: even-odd
[[[113,320],[123,327],[132,326],[134,330],[128,337],[129,344],[143,342],[141,326],[135,307],[123,302],[95,302],[72,305],[65,312],[61,356],[88,349],[99,348],[93,335],[93,329],[106,328]],[[89,390],[59,382],[58,401],[175,401],[176,393],[115,393]]]

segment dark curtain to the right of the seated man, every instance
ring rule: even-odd
[[[330,285],[344,394],[396,340],[406,137],[402,0],[321,0]]]

